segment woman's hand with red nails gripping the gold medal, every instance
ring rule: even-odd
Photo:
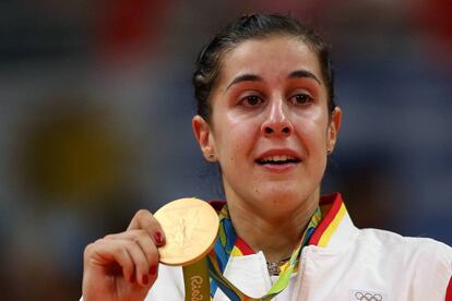
[[[164,232],[148,210],[139,210],[124,232],[88,244],[84,252],[83,300],[143,300],[158,270]]]

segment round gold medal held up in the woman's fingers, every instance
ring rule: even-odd
[[[204,201],[179,198],[159,208],[154,217],[166,237],[166,244],[158,248],[160,263],[189,265],[204,257],[215,243],[218,215]]]

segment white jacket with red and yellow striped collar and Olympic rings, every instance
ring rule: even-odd
[[[357,229],[340,194],[322,197],[321,206],[325,205],[330,208],[302,249],[298,274],[274,300],[452,301],[450,246],[426,238]],[[255,298],[275,280],[267,274],[262,252],[230,256],[224,275]],[[160,264],[145,300],[183,300],[183,290],[182,269]],[[228,299],[217,289],[214,300]]]

